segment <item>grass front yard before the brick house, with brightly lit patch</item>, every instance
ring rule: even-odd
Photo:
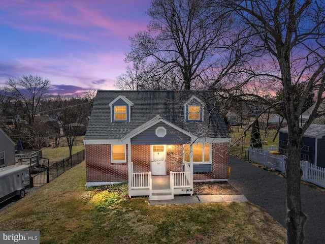
[[[39,230],[41,243],[286,243],[286,231],[245,202],[149,205],[127,184],[86,189],[85,163],[0,212],[1,230]]]

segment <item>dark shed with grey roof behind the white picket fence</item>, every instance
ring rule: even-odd
[[[285,154],[288,142],[288,128],[279,133],[279,151]],[[303,136],[301,160],[307,160],[318,167],[325,168],[325,126],[311,124]]]

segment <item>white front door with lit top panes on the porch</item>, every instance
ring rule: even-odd
[[[166,175],[166,145],[151,145],[151,174]]]

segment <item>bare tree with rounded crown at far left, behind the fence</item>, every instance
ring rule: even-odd
[[[33,124],[38,106],[47,95],[50,81],[40,76],[29,75],[16,80],[8,79],[6,85],[10,92],[22,102],[22,109],[27,116],[28,124]]]

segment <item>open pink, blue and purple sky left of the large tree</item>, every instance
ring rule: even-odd
[[[59,94],[115,89],[129,36],[146,29],[150,0],[0,1],[0,86],[38,75]]]

